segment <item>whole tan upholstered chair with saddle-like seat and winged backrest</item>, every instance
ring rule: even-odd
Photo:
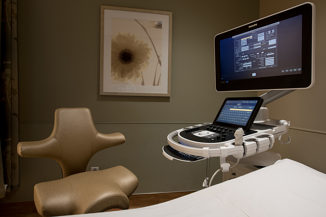
[[[63,179],[38,183],[34,201],[42,216],[59,216],[128,209],[128,198],[138,186],[137,177],[123,166],[86,171],[92,156],[105,148],[125,142],[120,133],[98,133],[88,108],[59,108],[49,138],[20,142],[22,157],[56,160]]]

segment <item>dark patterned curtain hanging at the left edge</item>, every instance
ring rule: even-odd
[[[1,0],[0,11],[0,198],[3,198],[5,192],[18,188],[19,184],[17,0]]]

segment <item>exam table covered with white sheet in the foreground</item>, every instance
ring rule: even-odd
[[[326,174],[283,159],[168,202],[75,216],[326,216]]]

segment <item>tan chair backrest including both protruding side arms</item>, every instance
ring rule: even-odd
[[[41,141],[20,142],[17,152],[22,157],[56,160],[67,177],[85,172],[96,152],[124,142],[121,133],[98,133],[88,108],[59,108],[54,113],[52,134]]]

